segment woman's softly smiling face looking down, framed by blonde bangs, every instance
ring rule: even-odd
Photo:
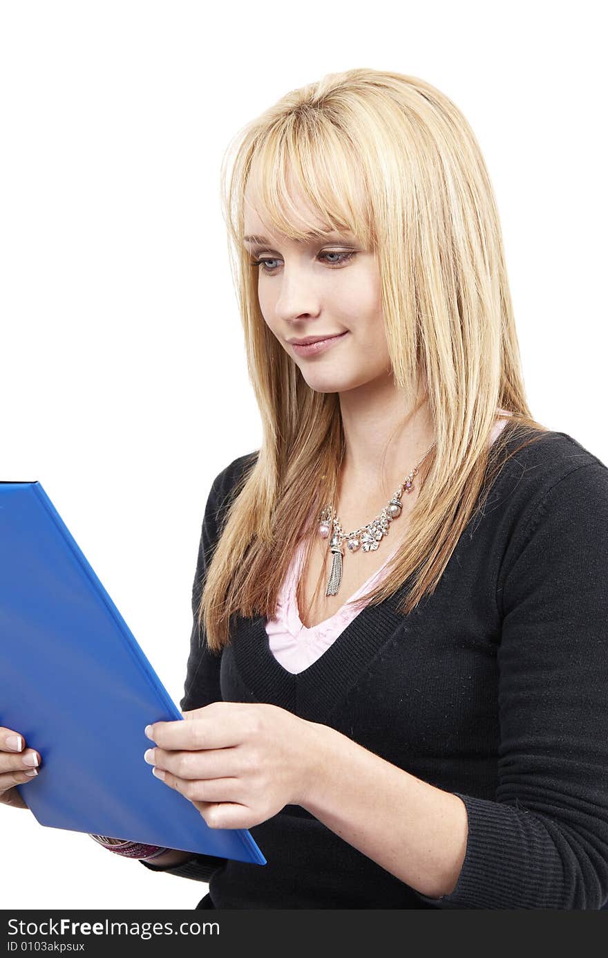
[[[305,241],[272,233],[247,197],[244,232],[245,247],[259,263],[253,268],[264,321],[310,388],[342,393],[386,380],[391,362],[372,251],[351,233]],[[321,349],[298,350],[291,342],[338,336]]]

